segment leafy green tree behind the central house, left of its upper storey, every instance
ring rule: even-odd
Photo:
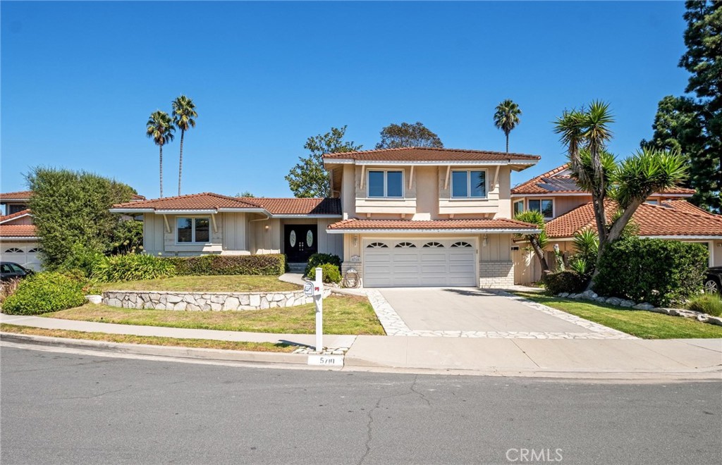
[[[323,169],[323,155],[357,151],[362,148],[352,141],[344,141],[346,128],[347,126],[331,128],[328,133],[308,138],[303,148],[310,154],[298,157],[300,162],[286,176],[293,195],[300,198],[331,195],[329,174]]]

